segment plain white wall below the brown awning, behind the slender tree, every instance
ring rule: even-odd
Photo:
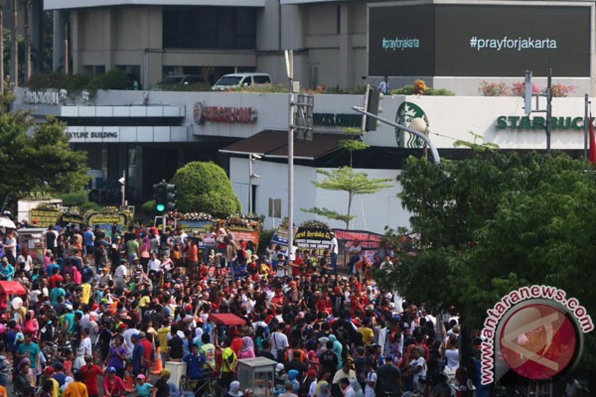
[[[247,158],[230,159],[230,180],[236,195],[242,202],[244,212],[249,206],[248,183],[249,168]],[[328,169],[328,168],[325,168]],[[399,170],[356,170],[368,173],[371,178],[390,178],[394,182],[389,189],[381,190],[374,195],[356,196],[352,203],[352,214],[356,219],[350,224],[351,229],[369,230],[371,232],[383,233],[385,226],[395,229],[398,226],[409,226],[409,212],[403,210],[401,201],[397,194],[401,191],[401,185],[395,182]],[[281,198],[281,213],[287,215],[287,164],[279,164],[268,161],[255,161],[253,173],[260,175],[259,180],[253,181],[256,187],[255,208],[257,214],[267,215],[268,199]],[[316,215],[300,211],[300,208],[324,207],[337,212],[346,212],[347,193],[333,192],[330,190],[318,189],[312,185],[312,180],[322,180],[324,176],[316,173],[313,167],[302,165],[294,166],[294,223],[300,224],[303,221],[318,219],[326,222],[331,227],[345,227],[343,222],[330,221],[327,218],[316,217]],[[279,219],[275,224],[280,223]],[[265,228],[273,227],[274,219],[265,218]]]

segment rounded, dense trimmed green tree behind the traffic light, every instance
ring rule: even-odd
[[[176,171],[178,210],[226,217],[241,211],[240,200],[224,168],[213,162],[192,161]]]

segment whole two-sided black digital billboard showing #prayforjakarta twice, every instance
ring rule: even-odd
[[[555,76],[589,77],[590,14],[591,7],[558,5],[371,7],[368,74],[546,76],[551,63]]]

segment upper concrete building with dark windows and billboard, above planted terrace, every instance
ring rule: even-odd
[[[74,73],[119,68],[144,88],[167,74],[213,82],[235,71],[285,83],[284,49],[294,49],[294,79],[311,89],[376,84],[388,74],[392,87],[420,78],[478,95],[482,80],[519,82],[527,68],[544,85],[549,61],[555,83],[579,95],[594,86],[592,2],[44,0],[44,7],[55,10],[55,68],[64,60],[66,19]],[[476,35],[485,48],[468,45]],[[422,44],[403,48],[408,37]],[[526,37],[532,48],[514,48]],[[535,39],[545,48],[533,48]]]

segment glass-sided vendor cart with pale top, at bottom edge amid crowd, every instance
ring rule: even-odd
[[[244,389],[252,389],[253,395],[269,395],[275,376],[277,361],[266,357],[242,358],[238,360],[238,382]]]

